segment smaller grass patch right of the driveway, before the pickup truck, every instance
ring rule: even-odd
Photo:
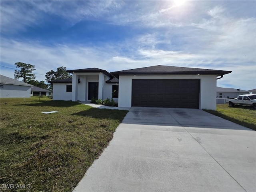
[[[253,107],[238,105],[230,107],[228,104],[218,104],[216,111],[205,111],[252,130],[256,130],[256,110]]]

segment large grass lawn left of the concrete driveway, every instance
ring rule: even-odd
[[[58,113],[41,113],[48,111]],[[72,191],[126,113],[48,98],[2,98],[1,184]]]

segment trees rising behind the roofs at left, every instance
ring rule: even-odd
[[[33,73],[33,71],[36,69],[35,69],[34,65],[17,62],[17,63],[15,63],[15,66],[16,66],[16,68],[18,68],[18,70],[14,71],[15,79],[22,78],[22,81],[24,83],[28,83],[28,84],[34,85],[36,87],[48,89],[51,91],[52,91],[52,84],[46,83],[46,82],[72,77],[68,72],[66,72],[66,70],[67,70],[66,67],[59,67],[59,68],[57,68],[56,71],[50,70],[49,72],[46,73],[46,75],[45,75],[46,82],[44,82],[44,81],[39,82],[38,80],[35,80],[36,75]]]

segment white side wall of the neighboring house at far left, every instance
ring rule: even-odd
[[[31,86],[21,86],[21,85],[10,85],[3,84],[3,88],[0,88],[1,98],[23,98],[30,97]]]

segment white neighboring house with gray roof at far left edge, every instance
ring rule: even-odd
[[[0,75],[0,97],[1,98],[23,98],[30,97],[33,85]]]

